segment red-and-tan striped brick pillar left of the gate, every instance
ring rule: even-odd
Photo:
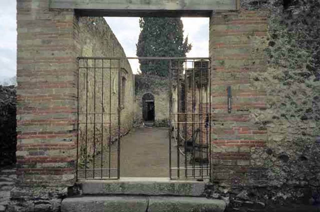
[[[75,181],[76,45],[73,10],[17,0],[17,174],[22,184]]]

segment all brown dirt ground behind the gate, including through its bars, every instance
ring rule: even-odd
[[[117,142],[111,145],[110,151],[110,168],[112,171],[103,170],[102,168],[109,168],[109,150],[97,154],[93,159],[88,160],[86,174],[85,171],[79,171],[79,178],[111,178],[117,177]],[[183,150],[182,150],[183,151]],[[178,167],[177,145],[172,138],[171,156],[172,167]],[[188,166],[188,176],[194,175],[199,178],[200,170],[192,171],[189,163],[190,157],[187,156],[187,163],[185,163],[185,156],[179,151],[180,168]],[[172,170],[172,176],[177,176],[177,171]],[[180,176],[186,174],[185,169],[180,169]],[[203,171],[203,175],[209,175],[209,172]],[[127,135],[120,139],[120,177],[169,177],[169,131],[166,128],[133,128]]]

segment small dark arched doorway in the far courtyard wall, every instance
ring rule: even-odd
[[[142,117],[145,125],[154,125],[155,97],[152,94],[144,94],[142,96]]]

